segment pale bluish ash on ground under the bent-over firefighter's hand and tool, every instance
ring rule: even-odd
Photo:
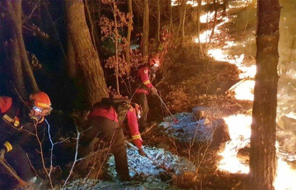
[[[135,180],[149,183],[159,183],[161,181],[169,181],[171,175],[182,175],[185,171],[195,171],[193,163],[189,162],[186,158],[173,155],[171,152],[164,151],[163,149],[157,149],[155,147],[145,147],[144,151],[148,157],[154,159],[158,164],[164,165],[172,170],[171,174],[168,174],[158,165],[154,165],[146,157],[139,155],[138,151],[134,149],[127,149],[128,166],[130,170],[130,176]],[[112,179],[116,179],[115,161],[114,156],[111,156],[108,160],[109,169],[108,173]]]

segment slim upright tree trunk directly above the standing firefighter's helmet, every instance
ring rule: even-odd
[[[143,59],[148,60],[148,41],[149,41],[149,4],[148,0],[144,1],[143,15]]]

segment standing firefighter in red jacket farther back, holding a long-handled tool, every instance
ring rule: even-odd
[[[133,101],[142,107],[142,117],[139,119],[140,131],[143,132],[146,127],[147,115],[148,115],[148,101],[147,95],[151,92],[152,95],[157,94],[156,88],[153,87],[150,79],[155,78],[155,71],[159,66],[159,59],[157,55],[150,56],[148,64],[140,67],[136,75],[136,92],[133,96]]]

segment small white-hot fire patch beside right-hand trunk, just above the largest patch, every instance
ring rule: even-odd
[[[235,89],[235,98],[241,100],[254,100],[254,86],[255,81],[246,80],[239,84]]]

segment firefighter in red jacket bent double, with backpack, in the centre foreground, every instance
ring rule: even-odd
[[[127,122],[132,139],[139,148],[139,154],[145,156],[146,154],[142,148],[143,140],[137,123],[140,117],[140,106],[128,99],[103,98],[101,102],[96,103],[88,115],[87,125],[83,128],[85,132],[81,136],[80,149],[78,150],[80,158],[83,159],[77,166],[78,171],[87,169],[90,160],[89,155],[94,148],[94,139],[100,134],[100,136],[111,142],[117,179],[119,181],[128,181],[130,176],[124,143],[125,138],[120,124]]]

